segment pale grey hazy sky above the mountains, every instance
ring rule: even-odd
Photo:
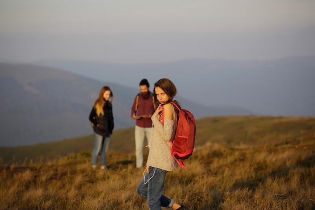
[[[0,61],[315,55],[315,0],[0,0]]]

